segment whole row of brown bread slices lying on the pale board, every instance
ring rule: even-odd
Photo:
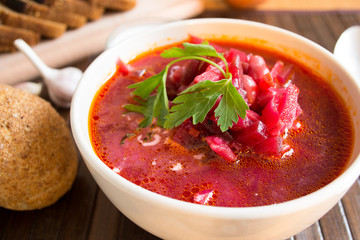
[[[12,39],[34,45],[41,38],[60,37],[66,29],[98,20],[106,9],[126,11],[136,0],[0,0],[0,53],[15,50]],[[30,33],[30,31],[32,33]]]

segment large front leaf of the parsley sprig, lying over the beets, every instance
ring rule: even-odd
[[[239,115],[245,118],[246,110],[249,109],[230,79],[202,81],[181,92],[173,100],[176,105],[170,109],[164,127],[177,127],[190,117],[193,118],[193,124],[203,122],[220,96],[222,98],[215,109],[215,117],[218,117],[221,131],[228,130],[233,122],[239,120]]]

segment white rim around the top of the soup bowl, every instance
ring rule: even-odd
[[[336,61],[332,53],[330,53],[328,50],[323,48],[322,46],[318,45],[317,43],[314,43],[310,41],[309,39],[298,35],[296,33],[293,33],[291,31],[264,24],[259,22],[253,22],[249,20],[241,20],[241,19],[228,19],[228,18],[201,18],[201,19],[190,19],[190,20],[180,20],[176,22],[170,22],[166,23],[164,25],[160,25],[157,27],[154,27],[151,30],[145,31],[144,33],[140,33],[136,36],[133,36],[127,41],[131,41],[133,38],[141,37],[142,35],[146,35],[151,32],[155,31],[163,31],[166,28],[169,27],[181,27],[182,25],[193,25],[193,24],[211,24],[211,23],[217,23],[217,24],[239,24],[239,25],[247,25],[247,26],[255,26],[260,28],[267,28],[272,31],[276,31],[277,34],[287,34],[290,35],[293,38],[297,38],[300,41],[303,41],[307,45],[311,45],[312,47],[315,47],[317,51],[321,52],[321,54],[325,55],[327,58],[329,58],[332,62],[334,62],[336,65],[338,65],[338,68],[341,69],[341,71],[345,72],[345,75],[352,79],[356,86],[359,88],[359,83],[356,83],[355,80],[347,73],[347,71]],[[113,48],[110,48],[106,51],[104,51],[100,56],[98,56],[93,63],[88,67],[94,68],[97,66],[98,62],[101,61],[101,59],[106,58],[108,55],[111,55],[110,51],[113,51],[114,48],[118,48],[118,46],[115,46]],[[234,219],[234,218],[248,218],[248,219],[256,219],[259,216],[261,217],[274,217],[274,216],[280,216],[288,214],[289,212],[298,212],[302,209],[308,208],[308,206],[316,206],[317,204],[321,204],[325,201],[325,199],[328,198],[328,196],[331,196],[335,194],[333,192],[333,189],[342,189],[345,182],[352,182],[352,184],[357,180],[358,178],[358,171],[357,169],[360,169],[360,157],[359,154],[357,156],[352,156],[354,158],[353,162],[345,169],[340,176],[338,176],[336,179],[334,179],[332,182],[327,184],[326,186],[322,187],[321,189],[312,192],[308,195],[302,196],[300,198],[296,198],[293,200],[289,200],[282,203],[276,203],[273,205],[266,205],[266,206],[255,206],[255,207],[219,207],[219,206],[206,206],[206,205],[200,205],[200,204],[194,204],[189,202],[184,202],[181,200],[173,199],[170,197],[166,197],[154,192],[151,192],[147,189],[144,189],[128,180],[123,178],[122,176],[115,173],[113,170],[111,170],[105,163],[101,161],[100,158],[97,157],[95,152],[92,149],[92,151],[86,151],[88,149],[88,143],[85,139],[79,136],[79,128],[80,128],[80,122],[76,121],[77,118],[77,110],[81,108],[81,102],[78,98],[79,91],[81,91],[81,88],[84,88],[82,85],[84,85],[84,78],[87,78],[87,72],[85,71],[84,76],[82,80],[79,83],[79,87],[76,89],[76,92],[73,97],[73,101],[71,104],[70,109],[70,123],[71,128],[73,131],[75,142],[83,156],[84,162],[88,165],[90,164],[93,168],[98,169],[97,172],[102,175],[103,178],[107,179],[110,182],[114,182],[115,185],[120,185],[123,188],[126,188],[127,191],[130,191],[130,194],[136,194],[138,197],[145,198],[147,202],[151,202],[154,204],[161,203],[163,207],[166,208],[172,208],[179,211],[185,211],[185,212],[193,212],[196,214],[201,214],[203,216],[216,216],[221,218],[228,218],[228,219]],[[80,89],[80,90],[79,90]],[[355,127],[355,126],[354,126]],[[355,147],[354,147],[355,148]],[[354,150],[353,150],[354,152]],[[352,153],[353,155],[354,153]],[[352,185],[351,184],[351,185]],[[349,184],[349,188],[351,186]],[[346,193],[348,189],[344,190],[343,195]]]

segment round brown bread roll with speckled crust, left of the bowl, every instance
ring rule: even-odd
[[[77,152],[64,119],[45,100],[0,84],[0,207],[40,209],[70,188]]]

